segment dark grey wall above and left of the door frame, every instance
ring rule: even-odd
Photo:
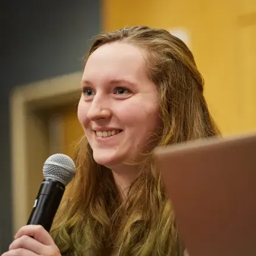
[[[82,70],[92,36],[101,31],[101,1],[1,2],[0,254],[12,237],[11,90],[24,83]]]

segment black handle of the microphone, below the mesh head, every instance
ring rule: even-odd
[[[54,179],[44,179],[27,224],[42,225],[49,232],[64,191],[63,183]]]

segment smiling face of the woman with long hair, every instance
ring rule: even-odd
[[[90,55],[78,117],[96,163],[114,169],[141,160],[161,122],[157,87],[139,48],[113,42]]]

